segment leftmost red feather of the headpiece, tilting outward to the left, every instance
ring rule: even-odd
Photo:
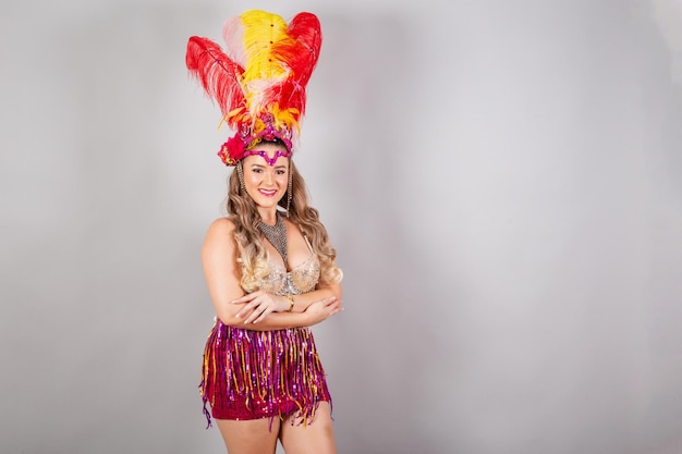
[[[216,42],[198,36],[191,37],[185,63],[190,74],[200,82],[223,114],[245,105],[240,85],[244,69],[233,62]]]

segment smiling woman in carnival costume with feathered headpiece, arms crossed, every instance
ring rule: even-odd
[[[217,312],[204,355],[205,413],[210,425],[208,404],[230,454],[275,453],[278,439],[285,452],[336,453],[309,327],[342,309],[342,274],[292,161],[319,22],[249,11],[229,20],[224,35],[230,56],[192,37],[186,59],[236,130],[219,152],[235,165],[230,214],[212,222],[202,250]]]

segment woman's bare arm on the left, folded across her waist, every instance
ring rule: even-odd
[[[318,290],[307,295],[299,295],[299,298],[305,298],[300,302],[294,302],[294,308],[297,303],[300,310],[294,312],[281,311],[288,310],[290,307],[290,302],[285,297],[255,292],[254,294],[270,297],[272,309],[280,311],[269,314],[267,318],[264,316],[257,323],[253,323],[253,319],[249,319],[247,323],[245,323],[248,317],[254,312],[254,308],[251,307],[246,309],[246,312],[242,314],[242,317],[238,317],[238,314],[243,312],[243,309],[245,309],[245,305],[232,303],[244,296],[244,291],[240,284],[236,257],[238,249],[234,242],[234,225],[226,218],[214,221],[208,228],[206,240],[202,248],[202,265],[216,314],[223,323],[258,331],[299,328],[318,323],[341,310],[340,298],[334,298],[333,300],[327,298],[322,300],[327,295],[333,296],[333,293],[329,290]],[[257,316],[260,316],[261,312],[263,310],[258,312]]]

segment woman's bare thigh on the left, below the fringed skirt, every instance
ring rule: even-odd
[[[229,454],[275,454],[279,419],[270,418],[234,421],[216,419]]]

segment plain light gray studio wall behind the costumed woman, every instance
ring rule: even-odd
[[[682,2],[393,3],[2,3],[1,453],[223,451],[229,131],[184,51],[256,7],[324,27],[296,162],[345,271],[339,451],[682,451]]]

